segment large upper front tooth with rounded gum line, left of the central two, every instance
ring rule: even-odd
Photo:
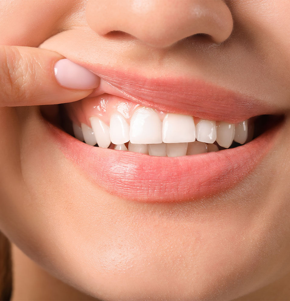
[[[153,109],[142,107],[133,114],[130,141],[133,144],[162,143],[162,123]]]

